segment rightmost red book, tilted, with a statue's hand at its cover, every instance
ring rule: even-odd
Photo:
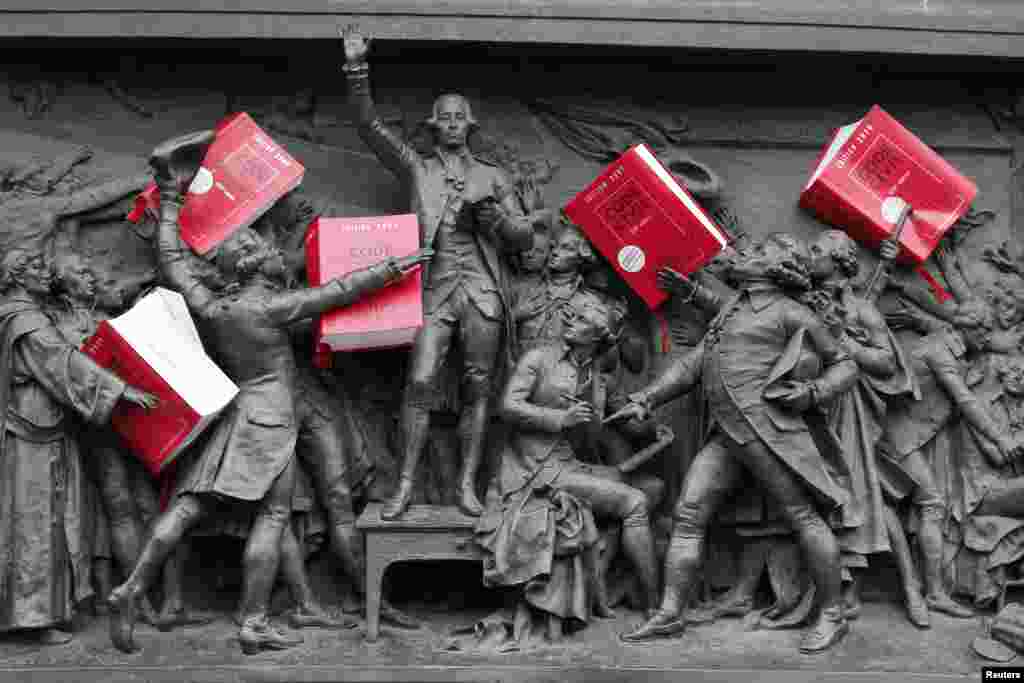
[[[839,129],[800,205],[870,247],[892,234],[903,203],[913,213],[900,258],[923,263],[963,216],[978,187],[880,106]]]

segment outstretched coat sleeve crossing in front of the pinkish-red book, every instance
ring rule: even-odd
[[[390,261],[353,270],[322,287],[283,292],[266,303],[266,312],[276,325],[292,325],[357,301],[401,276]]]

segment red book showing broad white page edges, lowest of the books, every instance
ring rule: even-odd
[[[238,387],[206,355],[184,299],[157,288],[99,324],[82,351],[128,384],[160,397],[146,412],[119,401],[111,424],[158,476],[234,398]]]

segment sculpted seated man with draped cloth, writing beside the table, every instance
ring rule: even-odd
[[[657,597],[646,496],[581,462],[573,449],[580,432],[601,418],[586,398],[601,381],[597,359],[620,323],[600,298],[579,300],[564,312],[562,343],[526,352],[502,397],[512,436],[476,528],[487,553],[484,583],[522,585],[526,602],[560,618],[586,622],[588,606],[607,613],[602,587],[593,581],[591,512],[622,523],[623,549],[647,606]]]

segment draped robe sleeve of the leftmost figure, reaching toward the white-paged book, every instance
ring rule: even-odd
[[[50,326],[23,335],[16,352],[33,379],[54,399],[93,424],[105,424],[125,383],[69,344]]]

